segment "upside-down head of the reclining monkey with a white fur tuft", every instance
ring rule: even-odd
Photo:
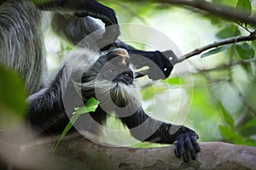
[[[139,98],[137,89],[133,86],[133,80],[130,57],[125,49],[117,48],[102,55],[84,73],[83,88],[88,88],[86,85],[89,84],[92,88],[93,82],[94,97],[101,103],[125,107],[131,102],[137,102]]]

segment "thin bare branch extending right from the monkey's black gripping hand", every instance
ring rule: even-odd
[[[212,43],[210,43],[210,44],[208,44],[204,47],[196,48],[195,50],[189,52],[188,54],[184,54],[180,58],[175,59],[174,61],[172,61],[172,63],[174,65],[177,64],[177,63],[181,63],[181,62],[183,62],[183,60],[189,59],[190,57],[195,56],[197,54],[201,54],[202,52],[207,51],[208,49],[211,49],[211,48],[218,48],[219,46],[227,45],[227,44],[230,44],[230,43],[253,41],[255,39],[256,39],[256,31],[252,32],[248,36],[230,37],[230,38],[221,40],[219,42],[212,42]]]

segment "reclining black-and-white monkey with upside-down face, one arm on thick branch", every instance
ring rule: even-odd
[[[84,50],[78,50],[74,55],[73,60],[64,63],[48,88],[28,99],[29,120],[33,129],[38,133],[62,132],[69,122],[68,115],[79,105],[79,99],[86,102],[95,97],[100,105],[96,112],[81,118],[81,128],[94,133],[96,125],[104,123],[108,114],[114,111],[136,139],[175,143],[175,154],[182,155],[184,161],[189,160],[185,151],[188,147],[191,158],[195,159],[199,145],[193,130],[157,121],[143,111],[133,84],[135,76],[130,57],[125,49],[117,48],[99,57],[91,57],[92,54]],[[90,57],[96,61],[90,62]]]

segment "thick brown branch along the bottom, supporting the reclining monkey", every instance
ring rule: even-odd
[[[80,136],[67,137],[55,154],[55,139],[15,146],[0,144],[1,161],[17,169],[256,169],[256,148],[221,142],[201,143],[195,161],[184,163],[173,146],[134,149],[95,144]]]

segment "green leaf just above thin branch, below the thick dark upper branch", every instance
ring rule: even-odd
[[[241,35],[241,31],[238,30],[237,26],[228,26],[221,31],[218,31],[216,34],[216,37],[219,37],[221,39],[229,38],[229,37],[236,37]]]

